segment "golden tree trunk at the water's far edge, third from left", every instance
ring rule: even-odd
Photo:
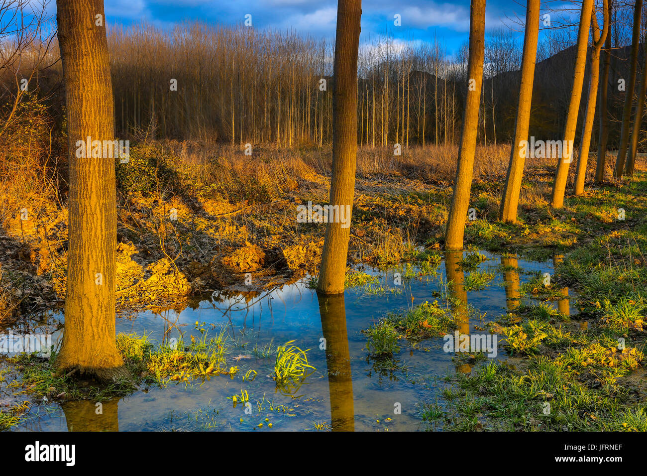
[[[467,64],[468,90],[465,99],[465,116],[463,117],[463,131],[458,152],[454,194],[444,243],[445,249],[449,250],[463,249],[465,216],[470,206],[470,189],[474,174],[484,56],[485,0],[472,0],[470,5],[470,56]]]

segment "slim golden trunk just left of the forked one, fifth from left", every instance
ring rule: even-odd
[[[557,157],[553,194],[551,196],[551,206],[556,209],[564,206],[564,192],[566,190],[568,170],[573,161],[573,153],[575,153],[572,144],[575,141],[577,116],[580,109],[580,99],[582,98],[582,85],[584,85],[584,70],[586,69],[586,52],[589,45],[589,27],[591,27],[592,11],[593,0],[582,0],[580,28],[577,32],[575,70],[573,71],[573,89],[571,89],[571,100],[569,101],[568,112],[566,114],[564,135],[562,135],[562,156]]]

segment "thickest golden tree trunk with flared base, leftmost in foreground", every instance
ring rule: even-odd
[[[65,330],[56,366],[111,381],[127,376],[115,345],[115,159],[76,153],[78,141],[114,139],[104,2],[58,0],[56,7],[69,152]]]

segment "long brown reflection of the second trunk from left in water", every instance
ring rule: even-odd
[[[355,431],[351,354],[348,348],[344,295],[317,295],[325,339],[333,431]]]

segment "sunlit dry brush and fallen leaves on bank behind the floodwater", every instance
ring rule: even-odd
[[[207,165],[186,147],[149,144],[118,164],[118,310],[214,289],[253,295],[316,273],[325,223],[297,223],[296,215],[298,205],[327,204],[320,156],[270,150],[260,159],[225,155]],[[483,149],[506,155],[500,146]],[[388,157],[360,154],[349,262],[388,266],[414,260],[419,246],[441,249],[452,175],[437,158],[416,160],[394,166]],[[381,166],[386,172],[371,172]],[[527,167],[519,221],[505,225],[497,221],[505,166],[477,170],[470,201],[476,219],[466,223],[465,244],[542,258],[642,219],[633,195],[642,176],[569,197],[557,211],[545,199],[552,176],[551,164]],[[17,209],[25,214],[8,214],[0,229],[0,321],[60,306],[65,295],[67,208],[50,200]]]

